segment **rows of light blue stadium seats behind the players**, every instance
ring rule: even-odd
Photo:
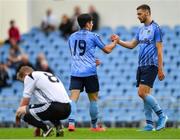
[[[98,33],[104,42],[110,42],[112,33],[121,35],[122,39],[131,39],[138,27],[127,29],[119,26],[115,30],[110,27],[101,28]],[[170,121],[180,121],[180,25],[170,28],[162,26],[164,34],[164,68],[166,79],[155,82],[153,94],[157,96]],[[55,31],[49,36],[38,28],[33,28],[22,35],[20,47],[29,54],[30,61],[35,64],[38,53],[46,54],[48,63],[55,74],[60,77],[68,91],[70,77],[70,52],[66,40]],[[0,60],[6,62],[9,45],[0,47]],[[102,64],[98,66],[100,82],[100,116],[104,121],[140,121],[144,119],[142,101],[137,95],[136,69],[138,47],[133,50],[117,46],[109,55],[97,48],[96,56]],[[14,73],[13,70],[10,73]],[[23,85],[12,80],[11,87],[0,89],[0,122],[14,121],[15,110],[22,97]],[[89,121],[88,99],[82,93],[77,107],[77,121]],[[175,115],[176,114],[176,115]]]

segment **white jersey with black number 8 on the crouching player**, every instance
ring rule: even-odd
[[[62,103],[70,102],[62,82],[51,73],[34,71],[31,75],[25,77],[25,86],[24,92],[28,92],[27,88],[29,87],[29,91],[41,103],[54,101]]]

